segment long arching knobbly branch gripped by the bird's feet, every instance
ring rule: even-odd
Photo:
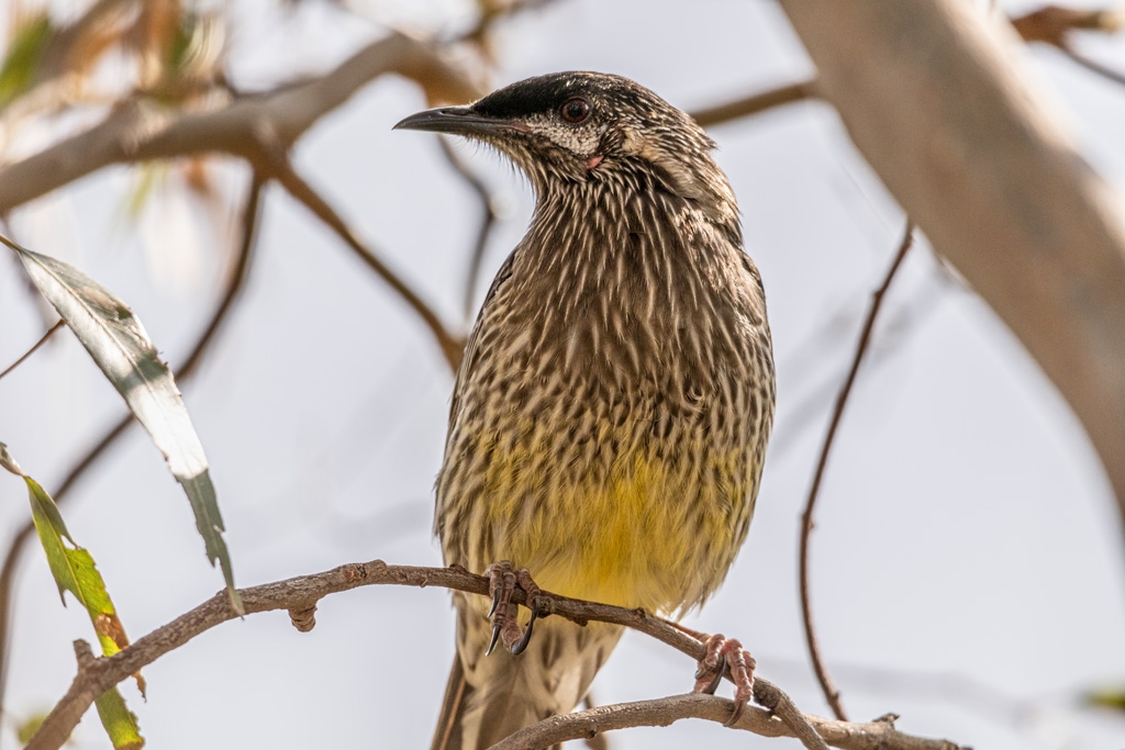
[[[322,598],[330,594],[348,591],[360,586],[375,585],[441,587],[488,596],[488,579],[464,569],[388,566],[381,560],[340,566],[339,568],[312,576],[298,576],[284,581],[254,586],[241,589],[240,595],[245,614],[287,609],[298,629],[307,631],[315,624],[313,612],[316,609],[317,602]],[[526,604],[522,589],[516,589],[513,600],[518,604]],[[546,591],[537,598],[537,607],[540,616],[555,614],[574,621],[579,625],[584,625],[590,621],[600,621],[632,627],[672,645],[695,660],[699,660],[705,650],[702,643],[687,633],[674,627],[660,617],[646,614],[642,609],[624,609],[606,604],[570,599]],[[196,635],[237,616],[234,609],[231,608],[231,600],[226,591],[219,591],[191,612],[138,639],[124,651],[109,658],[97,659],[92,663],[87,661],[80,665],[79,674],[71,684],[66,695],[63,696],[43,722],[43,725],[30,743],[28,743],[26,750],[56,750],[70,737],[74,725],[78,724],[97,696],[126,679],[142,667],[152,663],[161,656],[180,648]],[[800,721],[795,721],[791,713],[795,708],[793,708],[789,696],[760,678],[756,680],[755,698],[770,706],[775,714],[792,722],[789,726],[794,733],[800,731],[801,724],[809,724],[814,719],[800,716]],[[717,708],[722,708],[726,712],[724,717],[729,717],[729,702],[717,703],[714,705]],[[598,710],[595,708],[593,711]],[[817,721],[826,722],[827,720]],[[786,726],[784,722],[777,723]],[[828,724],[835,723],[828,722]],[[855,726],[861,728],[865,725]],[[856,737],[863,733],[861,729],[849,731]],[[786,735],[793,737],[794,734]],[[838,739],[839,735],[836,737]],[[907,735],[901,737],[904,738]],[[830,735],[825,735],[825,739],[834,742]],[[910,740],[915,742],[933,742],[918,740],[917,738],[910,738]],[[873,748],[876,746],[854,747]],[[955,744],[951,743],[901,746],[884,743],[879,747],[886,748],[888,750],[897,748],[903,750],[955,750],[956,748]]]

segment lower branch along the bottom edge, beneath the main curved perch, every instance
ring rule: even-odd
[[[703,719],[726,723],[735,704],[727,698],[701,693],[674,695],[654,701],[636,701],[587,711],[551,716],[522,729],[490,750],[546,750],[559,742],[600,737],[602,732],[633,726],[668,726],[682,719]],[[893,715],[865,724],[849,724],[819,716],[806,715],[817,733],[819,747],[827,744],[845,750],[957,750],[946,740],[903,734],[894,729]],[[784,722],[768,711],[748,706],[732,729],[746,730],[759,737],[793,737]],[[821,739],[822,738],[822,739]],[[827,741],[827,744],[826,744]],[[806,746],[808,747],[808,746]]]

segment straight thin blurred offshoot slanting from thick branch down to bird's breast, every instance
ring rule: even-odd
[[[426,327],[433,334],[434,338],[438,340],[438,345],[441,347],[442,354],[446,356],[446,361],[449,363],[450,369],[457,372],[458,367],[461,363],[461,353],[465,350],[465,342],[454,336],[446,328],[441,318],[438,314],[433,311],[429,305],[426,305],[422,298],[415,292],[410,284],[407,284],[397,273],[392,271],[386,263],[384,263],[378,255],[376,255],[367,245],[364,245],[356,233],[351,231],[351,227],[340,217],[334,208],[323,198],[316,190],[308,184],[296,171],[294,171],[292,165],[289,160],[285,156],[279,155],[270,164],[270,177],[278,181],[278,183],[285,188],[290,196],[292,196],[298,202],[303,204],[308,210],[310,210],[318,219],[324,222],[333,232],[335,232],[344,243],[359,255],[368,268],[376,272],[387,284],[390,286],[395,292],[406,301],[410,307],[417,313],[418,317],[425,323]]]

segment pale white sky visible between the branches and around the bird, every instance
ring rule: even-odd
[[[242,3],[237,83],[324,70],[378,34],[309,6],[279,21],[264,15],[272,3]],[[465,6],[378,7],[380,18],[425,26]],[[1125,40],[1081,43],[1125,70]],[[686,109],[811,70],[780,10],[760,0],[560,0],[508,24],[498,52],[497,85],[602,70]],[[1052,51],[1027,58],[1087,157],[1125,188],[1125,89]],[[390,132],[423,107],[413,85],[380,80],[312,130],[296,159],[359,234],[457,322],[478,207],[432,136]],[[903,217],[824,105],[713,135],[766,284],[778,417],[749,541],[688,624],[739,636],[763,676],[825,714],[800,629],[798,516],[858,318]],[[526,225],[530,193],[495,157],[464,153],[510,208],[489,249],[490,275]],[[219,174],[232,196],[242,190],[241,168]],[[134,231],[120,208],[128,186],[125,170],[107,170],[19,211],[15,226],[32,249],[126,299],[176,362],[208,315],[223,253],[210,229],[192,225],[201,216],[191,206],[152,208]],[[10,268],[0,274],[0,320],[6,364],[42,333]],[[812,560],[818,631],[850,714],[893,711],[903,730],[978,748],[1120,747],[1125,721],[1074,704],[1081,689],[1125,681],[1125,557],[1108,484],[1065,404],[987,306],[940,274],[925,242],[888,298],[870,364],[822,488]],[[430,515],[451,386],[417,320],[304,208],[270,189],[251,286],[183,389],[238,582],[372,558],[440,564]],[[0,440],[51,489],[122,408],[80,346],[60,336],[0,382]],[[0,478],[6,527],[21,524],[26,507],[21,482]],[[182,494],[138,430],[64,514],[134,639],[222,584]],[[60,608],[38,550],[26,555],[17,604],[15,719],[63,694],[74,672],[70,642],[92,640],[76,605]],[[452,658],[447,595],[368,588],[322,602],[317,621],[303,635],[284,613],[255,615],[148,667],[148,702],[129,685],[124,693],[150,747],[425,747]],[[631,634],[595,697],[682,693],[693,669]],[[75,740],[108,747],[92,713]],[[687,742],[794,747],[702,722],[612,737],[616,750]],[[10,732],[3,743],[14,746]]]

